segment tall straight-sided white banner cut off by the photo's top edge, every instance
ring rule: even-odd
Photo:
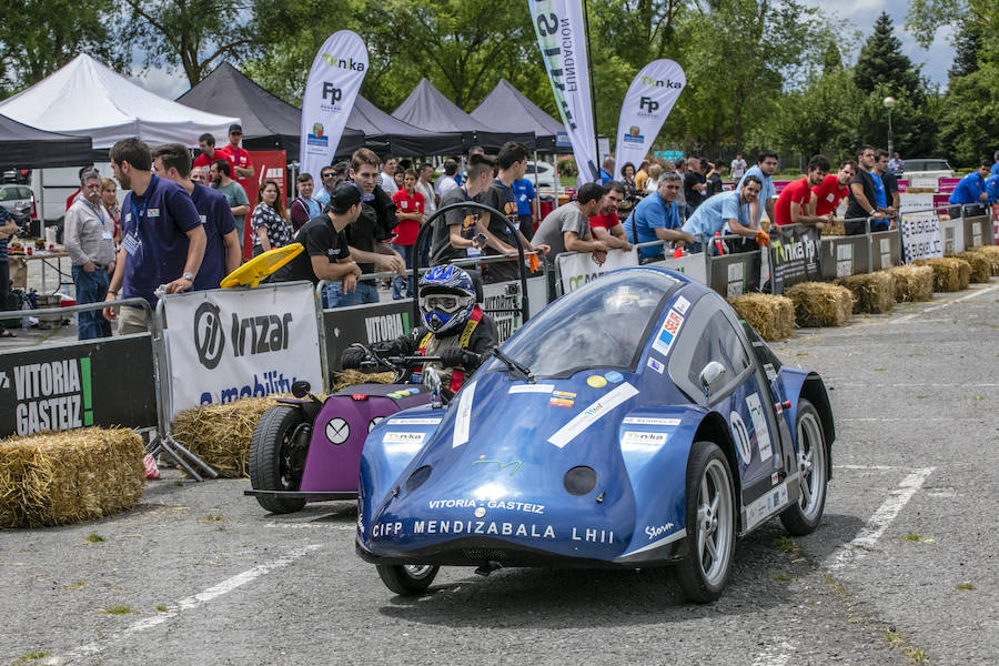
[[[527,0],[579,182],[599,182],[583,0]]]

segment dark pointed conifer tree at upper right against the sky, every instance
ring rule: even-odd
[[[915,103],[926,97],[919,68],[901,52],[901,41],[895,37],[891,18],[881,12],[875,22],[874,33],[860,49],[854,68],[854,81],[866,93],[878,85],[886,85],[892,95],[906,95]]]

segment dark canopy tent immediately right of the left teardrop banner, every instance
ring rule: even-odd
[[[430,132],[394,118],[357,95],[347,125],[364,132],[365,144],[380,153],[451,155],[462,152],[461,132]]]

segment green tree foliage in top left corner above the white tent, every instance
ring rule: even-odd
[[[0,98],[44,79],[81,52],[121,70],[111,0],[4,0],[0,9]]]

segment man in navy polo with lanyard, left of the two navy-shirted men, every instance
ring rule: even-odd
[[[152,154],[143,141],[122,139],[111,147],[110,158],[114,178],[131,191],[121,206],[121,248],[105,300],[144,299],[155,307],[161,285],[168,294],[194,285],[204,256],[204,228],[184,189],[152,173]],[[123,305],[120,314],[104,307],[104,317],[119,320],[121,335],[147,330],[140,307]]]

